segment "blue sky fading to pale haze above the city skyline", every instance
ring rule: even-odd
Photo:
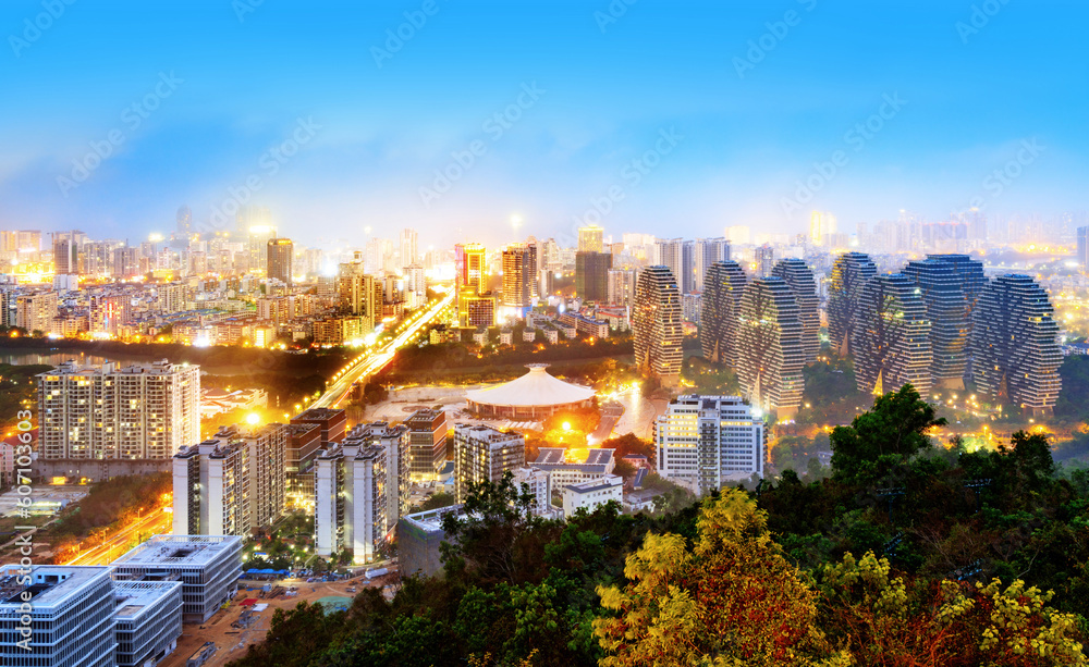
[[[255,177],[308,245],[1089,208],[1085,2],[68,1],[0,4],[4,228],[136,240]]]

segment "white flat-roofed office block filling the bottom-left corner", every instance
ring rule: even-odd
[[[0,664],[112,667],[117,638],[110,568],[0,568]],[[23,618],[30,618],[30,633]],[[30,647],[30,651],[26,650]]]

